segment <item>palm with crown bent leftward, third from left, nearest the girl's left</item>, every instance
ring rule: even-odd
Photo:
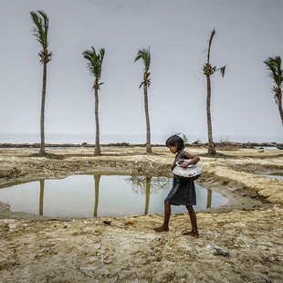
[[[143,96],[144,96],[144,111],[145,111],[145,121],[146,121],[146,152],[152,153],[152,145],[151,145],[151,125],[150,125],[150,115],[149,115],[149,102],[148,102],[148,89],[151,86],[151,73],[149,72],[149,68],[151,65],[151,52],[150,47],[148,49],[142,48],[139,49],[134,62],[142,58],[142,62],[144,65],[143,69],[143,81],[140,85],[140,89],[143,86]]]

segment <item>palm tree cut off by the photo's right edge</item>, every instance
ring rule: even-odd
[[[279,56],[269,57],[264,63],[269,70],[269,77],[271,77],[275,83],[272,88],[274,99],[278,105],[278,110],[283,125],[283,111],[282,111],[282,84],[283,84],[283,70],[281,69],[281,58]]]

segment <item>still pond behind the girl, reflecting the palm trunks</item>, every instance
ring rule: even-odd
[[[196,211],[227,204],[222,194],[195,185]],[[72,175],[2,188],[0,201],[11,211],[51,217],[163,214],[171,187],[172,179],[165,177]],[[173,205],[172,212],[186,213],[186,208]]]

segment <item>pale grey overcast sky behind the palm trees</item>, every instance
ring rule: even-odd
[[[151,47],[152,134],[206,134],[203,65],[211,63],[215,135],[281,136],[278,107],[263,61],[283,57],[282,0],[1,0],[0,133],[38,133],[40,50],[29,12],[49,17],[47,133],[94,133],[92,78],[81,53],[106,50],[100,132],[145,132],[139,48]]]

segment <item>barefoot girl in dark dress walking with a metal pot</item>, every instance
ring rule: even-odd
[[[183,139],[177,135],[171,136],[166,141],[166,146],[169,148],[170,152],[175,155],[175,161],[171,166],[171,170],[176,167],[176,162],[183,161],[183,159],[191,159],[190,162],[183,162],[182,166],[187,167],[190,164],[195,164],[200,159],[198,156],[192,155],[188,152],[184,152]],[[182,232],[182,235],[190,235],[194,237],[199,237],[196,216],[194,213],[193,205],[196,204],[195,188],[193,179],[184,179],[177,175],[173,175],[173,187],[167,197],[164,200],[164,220],[160,227],[154,228],[156,232],[166,232],[169,231],[169,219],[171,215],[171,204],[173,205],[185,205],[191,219],[192,231]]]

